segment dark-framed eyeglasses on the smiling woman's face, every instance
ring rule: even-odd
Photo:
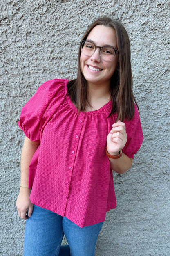
[[[81,50],[86,56],[92,56],[97,48],[100,49],[100,56],[105,61],[111,61],[115,54],[118,54],[118,50],[116,50],[114,47],[110,46],[96,46],[94,43],[90,41],[82,40],[81,42]]]

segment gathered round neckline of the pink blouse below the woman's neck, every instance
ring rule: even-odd
[[[69,103],[70,107],[78,112],[78,109],[76,108],[76,106],[72,103],[70,96],[67,94],[67,102]],[[81,114],[85,114],[85,115],[93,115],[93,114],[101,114],[103,112],[105,112],[105,110],[109,109],[111,111],[112,108],[112,100],[110,99],[110,101],[108,101],[103,107],[99,108],[98,110],[92,110],[92,111],[80,111]]]

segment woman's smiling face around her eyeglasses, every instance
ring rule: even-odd
[[[88,34],[87,40],[92,40],[96,46],[110,45],[117,49],[115,30],[112,27],[97,25]],[[80,67],[88,85],[107,85],[110,87],[110,80],[118,64],[117,54],[107,62],[100,57],[100,49],[97,48],[92,56],[81,53]]]

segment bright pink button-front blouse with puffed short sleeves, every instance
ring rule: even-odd
[[[116,119],[112,101],[99,110],[80,112],[67,95],[69,80],[42,84],[22,108],[19,127],[40,141],[29,166],[30,200],[66,216],[80,227],[105,220],[116,208],[106,138]],[[139,113],[124,121],[128,141],[123,152],[133,158],[143,141]]]

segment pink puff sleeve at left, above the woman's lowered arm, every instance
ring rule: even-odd
[[[67,81],[54,79],[43,83],[22,107],[18,126],[31,141],[40,140],[43,127],[64,99]]]

